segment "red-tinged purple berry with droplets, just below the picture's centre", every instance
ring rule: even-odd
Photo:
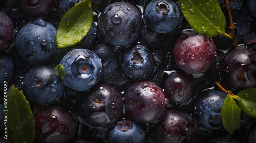
[[[164,112],[165,104],[164,92],[151,81],[134,83],[127,89],[124,97],[129,116],[141,123],[156,121]]]

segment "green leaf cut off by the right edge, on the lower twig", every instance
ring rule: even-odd
[[[256,118],[256,88],[243,89],[236,96],[235,98],[243,112]]]

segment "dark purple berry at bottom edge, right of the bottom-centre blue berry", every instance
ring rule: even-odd
[[[195,123],[191,114],[168,109],[165,116],[152,129],[156,143],[182,143],[193,137]]]

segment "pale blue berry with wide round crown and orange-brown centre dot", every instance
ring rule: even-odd
[[[67,53],[61,65],[66,76],[63,83],[74,90],[85,91],[92,88],[100,80],[102,64],[100,58],[87,49],[74,49]]]

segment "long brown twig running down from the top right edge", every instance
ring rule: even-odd
[[[230,21],[229,29],[231,30],[231,32],[229,33],[229,35],[231,35],[233,37],[233,39],[232,39],[233,43],[232,44],[234,45],[235,49],[237,49],[238,46],[237,46],[237,38],[236,38],[236,33],[235,33],[236,26],[234,26],[234,23],[233,23],[229,0],[225,0],[225,4],[226,4],[227,10],[228,10],[228,16],[229,16],[229,21]]]

